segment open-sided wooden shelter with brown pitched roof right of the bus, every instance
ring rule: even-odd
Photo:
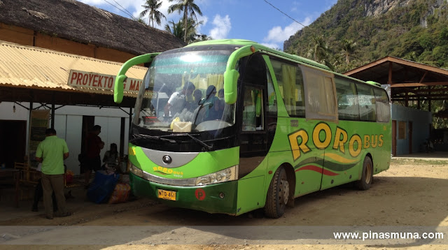
[[[344,75],[390,87],[393,154],[417,152],[421,142],[433,132],[430,126],[432,101],[448,100],[448,71],[435,66],[384,57]],[[428,103],[425,105],[428,112],[421,110],[423,101]],[[411,105],[416,109],[406,108]]]

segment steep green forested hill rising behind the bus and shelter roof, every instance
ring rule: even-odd
[[[448,1],[339,0],[283,47],[341,73],[386,56],[448,68]]]

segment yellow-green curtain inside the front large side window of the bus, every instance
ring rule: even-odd
[[[290,115],[295,114],[295,66],[281,65],[283,78],[283,100]]]

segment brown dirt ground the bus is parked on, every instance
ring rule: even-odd
[[[73,190],[76,198],[67,200],[73,215],[65,218],[48,220],[42,212],[29,211],[22,214],[10,212],[15,215],[8,216],[0,210],[0,249],[448,249],[447,233],[443,240],[412,244],[388,241],[366,244],[319,237],[297,241],[288,237],[288,233],[281,233],[281,230],[316,234],[325,230],[344,232],[353,230],[354,226],[386,231],[423,227],[426,231],[447,232],[446,159],[395,158],[389,170],[374,176],[368,191],[358,191],[347,184],[311,193],[296,198],[295,207],[288,208],[279,219],[267,219],[258,211],[241,216],[207,214],[167,207],[144,198],[115,205],[97,205],[85,200],[84,193],[83,189]],[[71,237],[78,241],[70,241],[69,235],[60,232],[57,235],[57,230],[50,229],[45,232],[41,229],[37,233],[29,229],[27,233],[19,233],[17,226],[30,226],[33,230],[62,226],[63,229],[72,229]],[[73,233],[75,228],[82,228],[81,232]],[[114,228],[120,230],[115,233]],[[94,235],[92,230],[104,230],[104,235],[108,234],[110,238],[91,237]],[[239,230],[241,233],[236,233]],[[260,235],[269,230],[276,233],[253,237],[258,230]],[[151,237],[137,236],[145,232]],[[251,236],[246,237],[245,234]],[[33,237],[41,240],[33,241]],[[85,242],[80,242],[80,239],[85,239]],[[121,241],[114,241],[117,239]]]

